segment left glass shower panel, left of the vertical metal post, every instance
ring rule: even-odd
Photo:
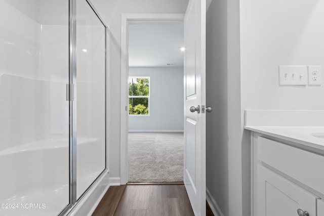
[[[0,0],[0,215],[69,204],[69,2]]]

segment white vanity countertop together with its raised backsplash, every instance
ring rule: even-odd
[[[324,150],[323,110],[246,110],[244,128]]]

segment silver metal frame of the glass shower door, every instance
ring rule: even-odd
[[[90,0],[86,1],[100,22],[105,27],[105,132],[107,128],[107,28],[108,26],[99,15]],[[92,186],[105,174],[107,170],[107,137],[105,136],[105,169],[88,189],[76,198],[76,0],[69,0],[69,204],[58,214],[67,214],[81,200]]]

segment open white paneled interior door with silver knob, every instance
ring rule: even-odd
[[[183,179],[194,214],[206,215],[206,0],[189,0],[184,41]]]

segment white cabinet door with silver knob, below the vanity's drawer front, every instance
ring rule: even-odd
[[[316,199],[313,194],[280,177],[275,172],[258,165],[258,214],[298,215],[297,209],[316,216]]]

